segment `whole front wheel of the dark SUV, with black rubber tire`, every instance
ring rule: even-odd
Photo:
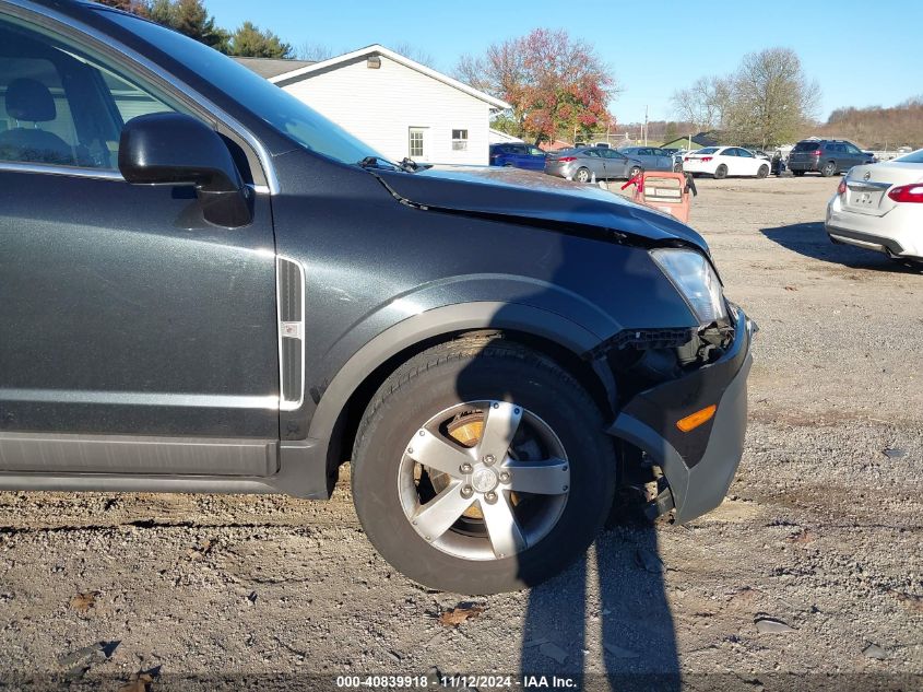
[[[517,436],[508,448],[510,457],[502,464],[494,460],[489,467],[497,473],[496,478],[485,470],[488,456],[480,456],[483,433],[468,436],[474,447],[465,453],[459,451],[458,444],[448,444],[446,434],[455,433],[445,432],[459,421],[476,422],[485,411],[484,427],[492,425],[492,411],[500,415],[493,420],[500,422],[506,420],[504,415],[511,415],[510,411],[522,412]],[[443,422],[441,417],[447,412],[449,422]],[[553,433],[545,441],[553,447],[559,445],[554,453],[533,444],[529,437],[531,426],[540,424]],[[461,430],[470,425],[465,423]],[[394,568],[427,587],[460,594],[495,594],[539,584],[580,558],[606,519],[615,489],[616,457],[612,439],[603,429],[603,417],[587,391],[544,355],[498,338],[463,339],[434,347],[398,368],[365,412],[353,449],[356,513],[379,553]],[[525,447],[520,435],[528,443]],[[447,443],[450,449],[446,451],[440,443]],[[411,453],[415,444],[417,449]],[[554,493],[507,494],[502,490],[504,468],[511,471],[510,486],[517,484],[517,467],[506,466],[516,464],[511,459],[535,461],[546,454],[551,454],[552,461],[564,459],[554,467],[554,474],[543,477],[555,485]],[[452,472],[458,469],[459,478],[447,479],[438,471],[434,474],[421,461],[427,458],[438,459],[445,468],[451,467]],[[466,477],[461,466],[453,466],[459,458],[471,459],[475,465],[473,471],[468,469]],[[561,477],[557,470],[563,471],[561,477],[569,476],[567,484],[561,485],[566,493],[558,491]],[[478,473],[481,480],[489,477],[487,480],[494,483],[498,499],[493,504],[490,486],[478,480]],[[524,479],[519,476],[520,482]],[[480,490],[473,491],[478,482]],[[454,521],[448,529],[441,528],[445,521],[435,528],[424,524],[424,508],[439,502],[439,497],[433,500],[436,493],[442,493],[440,497],[445,501],[452,500],[449,497],[452,492],[464,497],[465,490],[473,491],[474,500],[470,501],[473,504],[457,519],[453,519],[455,513],[447,513],[448,520]],[[427,491],[429,500],[425,502]],[[501,512],[514,506],[524,535],[532,537],[530,531],[536,527],[544,532],[539,531],[541,536],[536,533],[537,538],[525,549],[514,547],[511,552],[516,554],[504,553],[501,550],[507,549],[498,550],[484,519],[483,508],[492,506],[495,511],[500,507]],[[412,524],[417,519],[418,524]],[[443,532],[430,537],[426,535],[429,529],[431,533]],[[510,530],[507,537],[512,533]]]

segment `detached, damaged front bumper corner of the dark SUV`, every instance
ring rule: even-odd
[[[636,395],[608,433],[640,448],[670,484],[676,520],[695,519],[721,504],[744,451],[750,341],[757,327],[732,305],[734,342],[714,363]],[[676,422],[717,404],[712,419],[684,433]]]

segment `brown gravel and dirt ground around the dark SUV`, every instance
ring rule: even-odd
[[[693,225],[761,327],[747,448],[718,511],[607,531],[585,563],[446,626],[466,599],[391,570],[344,482],[330,503],[0,493],[0,688],[333,689],[438,670],[513,689],[541,684],[520,673],[923,689],[923,274],[828,242],[836,186],[699,181]]]

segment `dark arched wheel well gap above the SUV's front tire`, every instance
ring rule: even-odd
[[[440,343],[459,339],[488,340],[492,338],[516,341],[517,343],[529,347],[530,349],[552,359],[576,377],[583,387],[585,387],[588,394],[596,402],[596,406],[600,407],[604,417],[612,417],[613,409],[610,392],[606,391],[606,386],[593,371],[593,366],[590,362],[581,359],[570,349],[567,349],[551,339],[536,337],[535,335],[524,331],[507,329],[478,329],[439,335],[414,343],[381,363],[350,396],[346,406],[340,412],[330,439],[327,464],[328,473],[331,478],[331,486],[333,480],[335,480],[338,468],[343,462],[347,461],[350,456],[352,456],[356,431],[358,430],[359,422],[362,421],[363,414],[365,413],[369,401],[371,401],[375,392],[378,391],[378,388],[386,379],[388,379],[391,373],[406,363],[414,355]]]

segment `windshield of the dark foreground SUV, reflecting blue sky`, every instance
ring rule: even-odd
[[[343,163],[379,156],[371,146],[328,120],[313,108],[213,48],[153,22],[99,9],[106,17],[193,69],[295,144]]]

